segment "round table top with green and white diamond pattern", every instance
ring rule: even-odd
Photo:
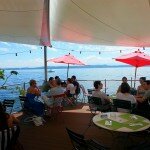
[[[119,132],[137,132],[150,127],[150,121],[142,116],[121,112],[100,113],[93,123],[101,128]]]

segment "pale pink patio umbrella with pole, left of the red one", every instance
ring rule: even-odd
[[[72,64],[72,65],[85,65],[80,60],[78,60],[73,55],[71,55],[70,53],[68,55],[64,55],[64,56],[61,56],[61,57],[58,57],[58,58],[50,59],[48,61],[55,62],[55,63],[68,64],[68,67],[67,67],[67,78],[68,78],[69,65],[70,64]]]

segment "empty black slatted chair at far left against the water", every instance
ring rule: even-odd
[[[13,107],[14,107],[14,103],[15,103],[15,100],[9,100],[9,99],[5,99],[3,101],[3,106],[4,108],[6,109],[6,112],[11,114],[12,111],[13,111]]]

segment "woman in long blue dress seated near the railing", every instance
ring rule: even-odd
[[[30,87],[27,89],[27,101],[25,102],[25,107],[31,109],[33,113],[37,116],[42,116],[44,114],[44,104],[42,102],[36,101],[36,98],[41,96],[41,91],[36,85],[35,80],[30,80]]]

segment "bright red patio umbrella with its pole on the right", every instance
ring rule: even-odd
[[[145,54],[144,52],[141,52],[140,50],[127,55],[120,56],[118,58],[115,58],[115,60],[134,66],[135,80],[136,80],[137,68],[150,65],[150,56]],[[134,87],[135,87],[135,81],[134,81]]]

